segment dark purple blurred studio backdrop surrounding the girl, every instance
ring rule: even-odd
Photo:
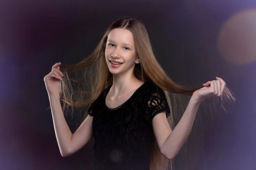
[[[237,99],[220,117],[197,115],[176,170],[256,170],[255,0],[1,0],[0,169],[93,170],[92,146],[61,157],[43,77],[82,60],[125,16],[144,23],[175,82],[218,76]]]

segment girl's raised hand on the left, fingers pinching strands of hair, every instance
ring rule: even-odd
[[[43,78],[49,96],[59,97],[61,81],[62,77],[64,76],[63,73],[59,70],[60,64],[61,63],[59,62],[53,65],[52,71]]]

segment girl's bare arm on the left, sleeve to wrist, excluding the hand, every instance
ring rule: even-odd
[[[81,149],[92,137],[92,120],[88,116],[74,134],[64,118],[59,97],[49,96],[54,130],[61,156],[66,157]]]

